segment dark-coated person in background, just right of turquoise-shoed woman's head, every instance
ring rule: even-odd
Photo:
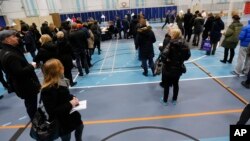
[[[187,13],[184,14],[184,30],[185,30],[185,39],[187,42],[190,41],[191,35],[192,35],[192,23],[191,19],[193,17],[193,14],[190,12],[190,9],[187,10]]]

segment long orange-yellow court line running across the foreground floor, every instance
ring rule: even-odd
[[[84,121],[83,123],[85,125],[124,123],[124,122],[150,121],[150,120],[161,120],[161,119],[188,118],[188,117],[209,116],[209,115],[222,115],[222,114],[231,114],[240,112],[242,112],[242,109],[211,111],[211,112],[201,112],[201,113],[191,113],[191,114],[162,115],[162,116],[141,117],[141,118],[95,120],[95,121]],[[25,125],[11,125],[11,126],[0,126],[0,129],[16,129],[24,127]],[[28,127],[30,128],[30,125]]]

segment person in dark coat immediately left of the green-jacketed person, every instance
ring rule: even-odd
[[[224,29],[224,22],[221,20],[219,14],[215,16],[214,22],[212,24],[212,29],[210,32],[210,41],[212,44],[212,55],[215,54],[216,47],[221,38],[221,31]]]

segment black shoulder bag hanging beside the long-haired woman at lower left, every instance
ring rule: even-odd
[[[30,136],[36,140],[57,139],[59,137],[58,122],[57,120],[54,120],[52,122],[48,121],[45,110],[43,110],[43,105],[41,103],[42,101],[40,96],[38,109],[31,121],[32,125],[30,129]]]

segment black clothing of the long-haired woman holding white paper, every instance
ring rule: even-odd
[[[81,115],[78,111],[70,114],[72,105],[70,100],[73,95],[65,86],[52,86],[41,90],[42,102],[49,115],[49,121],[58,120],[59,135],[69,134],[82,124]]]

